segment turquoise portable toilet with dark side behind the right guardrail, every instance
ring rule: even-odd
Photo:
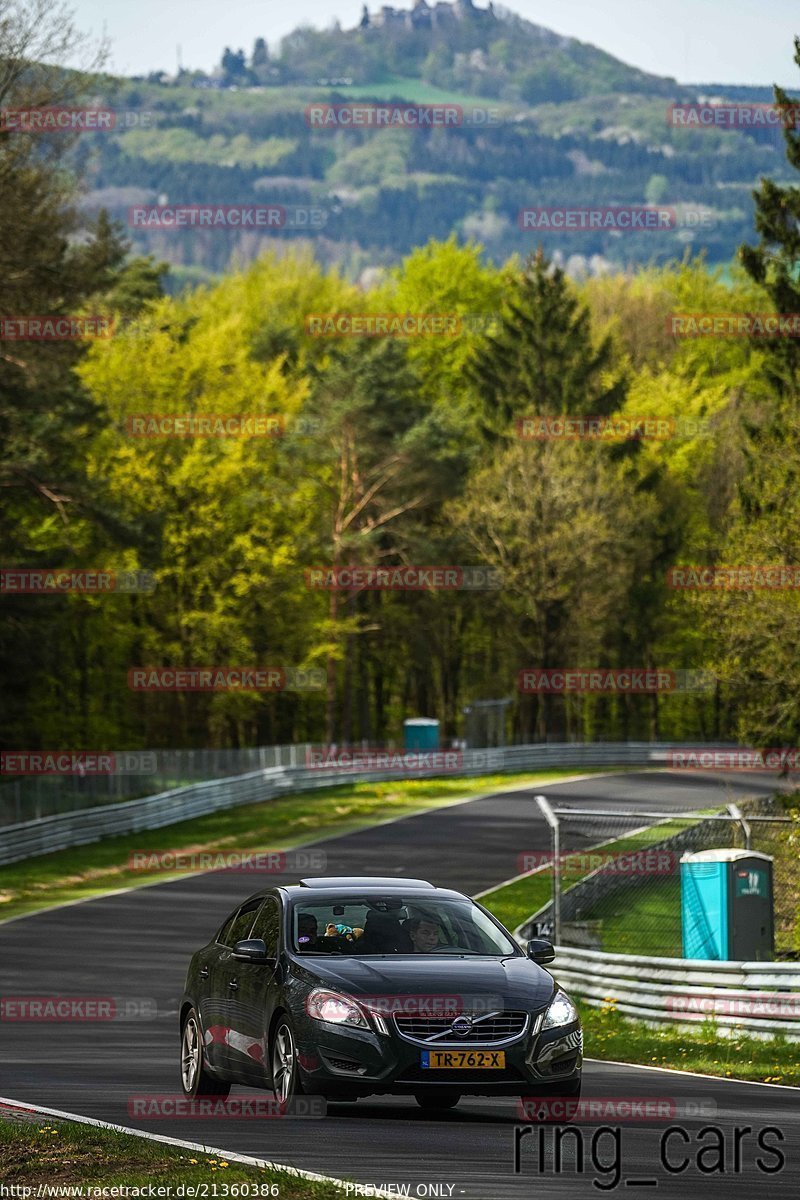
[[[753,850],[702,850],[680,860],[685,959],[774,958],[772,859]]]

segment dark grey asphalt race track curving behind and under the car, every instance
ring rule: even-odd
[[[668,814],[774,790],[774,779],[753,774],[596,775],[470,800],[319,845],[327,853],[331,875],[414,875],[474,894],[518,874],[522,851],[549,848],[547,828],[533,802],[535,793],[558,804]],[[596,826],[569,822],[565,848],[596,840]],[[166,829],[164,848],[169,845]],[[213,872],[0,925],[2,995],[146,998],[156,1002],[158,1014],[148,1020],[2,1022],[0,1096],[361,1183],[408,1188],[405,1194],[411,1196],[500,1200],[609,1192],[655,1192],[687,1200],[700,1192],[742,1200],[800,1196],[796,1091],[594,1061],[584,1067],[584,1098],[652,1098],[674,1109],[644,1122],[609,1121],[606,1133],[599,1132],[602,1121],[572,1127],[564,1135],[558,1171],[555,1127],[542,1126],[522,1136],[515,1172],[516,1130],[525,1123],[517,1115],[517,1102],[510,1099],[465,1099],[456,1110],[434,1116],[422,1112],[411,1098],[378,1097],[332,1104],[325,1120],[142,1122],[132,1117],[128,1097],[180,1091],[178,1001],[188,958],[236,901],[264,880]],[[591,1056],[590,1044],[585,1052]],[[270,1093],[234,1088],[231,1096],[237,1094]],[[670,1126],[685,1130],[673,1134],[667,1145],[669,1164],[682,1168],[672,1174],[660,1153],[661,1138]],[[698,1141],[705,1127],[718,1133],[705,1133]],[[766,1127],[777,1133],[764,1133]],[[763,1148],[757,1144],[759,1135]],[[718,1170],[720,1156],[712,1146],[724,1156],[724,1171]],[[778,1171],[776,1151],[786,1159]]]

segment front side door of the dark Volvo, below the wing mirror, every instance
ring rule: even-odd
[[[233,959],[235,980],[229,1034],[230,1061],[236,1075],[254,1084],[269,1084],[267,1031],[279,986],[281,908],[275,896],[266,896],[248,937],[260,937],[267,962],[241,962]]]

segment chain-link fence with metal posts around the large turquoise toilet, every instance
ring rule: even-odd
[[[522,865],[541,872],[536,894],[551,899],[522,932],[588,950],[682,958],[682,854],[750,850],[774,859],[775,958],[800,959],[799,802],[795,794],[741,810],[658,814],[644,805],[553,809],[540,798],[552,848]]]

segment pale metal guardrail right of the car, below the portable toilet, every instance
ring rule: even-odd
[[[559,946],[551,971],[567,991],[650,1024],[714,1020],[721,1033],[800,1042],[800,962],[715,962]]]

